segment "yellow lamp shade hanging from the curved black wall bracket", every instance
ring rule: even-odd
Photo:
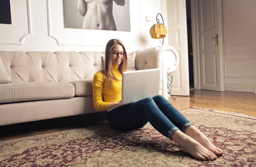
[[[151,38],[160,39],[160,38],[166,37],[166,35],[167,35],[167,29],[161,23],[154,24],[150,28],[150,36],[151,36]]]

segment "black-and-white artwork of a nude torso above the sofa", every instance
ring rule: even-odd
[[[131,31],[129,0],[63,0],[64,27]]]

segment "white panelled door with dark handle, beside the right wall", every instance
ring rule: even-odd
[[[224,91],[221,0],[198,1],[201,89]]]

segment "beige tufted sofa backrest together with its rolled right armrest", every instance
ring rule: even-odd
[[[176,71],[179,54],[172,46],[155,46],[133,51],[128,70],[161,69],[160,94],[168,99],[167,75]],[[93,79],[104,67],[100,51],[0,51],[7,73],[15,82]],[[129,67],[130,66],[130,67]]]

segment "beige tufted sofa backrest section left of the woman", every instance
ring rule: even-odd
[[[102,52],[0,51],[7,73],[15,82],[93,79],[104,67]]]

